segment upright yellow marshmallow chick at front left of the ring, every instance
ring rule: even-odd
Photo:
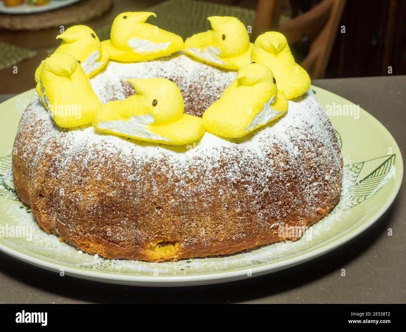
[[[89,77],[70,54],[55,53],[43,61],[37,93],[63,128],[91,123],[101,106]]]

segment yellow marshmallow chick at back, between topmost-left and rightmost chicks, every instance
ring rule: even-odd
[[[253,44],[244,24],[236,17],[207,17],[212,30],[200,32],[185,41],[184,51],[191,56],[227,69],[238,70],[251,62]]]

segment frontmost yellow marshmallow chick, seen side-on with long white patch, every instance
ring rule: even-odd
[[[171,145],[196,141],[203,135],[203,121],[184,114],[177,85],[165,78],[127,79],[136,94],[104,104],[93,126],[99,131]]]

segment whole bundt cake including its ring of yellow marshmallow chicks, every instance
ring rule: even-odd
[[[166,261],[298,240],[341,191],[337,136],[285,36],[236,17],[183,41],[114,19],[57,36],[13,148],[48,233],[108,259]]]

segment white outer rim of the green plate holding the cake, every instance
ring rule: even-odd
[[[325,92],[328,92],[329,94],[333,94],[334,96],[338,96],[345,101],[351,103],[348,99],[339,96],[338,94],[335,94],[334,92],[330,92],[326,89],[317,87],[317,86],[311,86],[311,89],[316,88],[316,90],[323,90]],[[10,101],[13,101],[15,99],[21,98],[23,94],[28,94],[30,92],[33,92],[35,89],[27,90],[25,92],[22,92],[20,94],[17,94],[13,96],[10,99],[7,99],[3,103],[7,103]],[[3,104],[1,103],[0,106]],[[320,257],[321,255],[324,255],[330,251],[335,250],[339,246],[347,243],[348,241],[354,239],[356,236],[361,234],[363,231],[365,231],[367,228],[369,228],[371,225],[373,225],[376,221],[379,220],[379,218],[389,209],[389,207],[392,205],[393,201],[397,197],[397,194],[399,193],[400,187],[402,185],[402,180],[403,180],[403,158],[402,158],[402,152],[392,136],[392,134],[389,132],[389,130],[378,120],[376,119],[373,115],[371,115],[368,111],[360,107],[363,111],[365,111],[365,114],[368,114],[375,122],[377,122],[383,129],[386,131],[386,133],[389,135],[389,137],[393,140],[393,142],[396,144],[396,148],[399,151],[399,158],[398,161],[400,162],[400,169],[396,169],[396,177],[399,177],[399,182],[397,186],[393,190],[393,194],[391,195],[389,201],[385,204],[384,207],[382,207],[375,216],[371,217],[369,221],[366,221],[364,223],[361,223],[360,225],[354,227],[351,231],[348,233],[344,234],[343,236],[340,236],[339,238],[336,238],[332,242],[328,244],[324,244],[320,247],[310,249],[307,252],[304,253],[298,253],[297,255],[293,257],[288,257],[285,259],[281,259],[279,261],[270,261],[268,263],[261,264],[259,266],[252,266],[250,268],[238,268],[236,270],[232,271],[227,271],[227,272],[212,272],[212,273],[203,273],[203,274],[196,274],[196,275],[180,275],[180,276],[153,276],[153,275],[132,275],[132,274],[119,274],[119,273],[114,273],[114,272],[104,272],[104,271],[94,271],[94,270],[86,270],[83,268],[76,268],[76,267],[69,267],[65,266],[64,264],[57,264],[53,262],[46,261],[45,259],[40,259],[37,257],[32,257],[30,255],[27,255],[25,253],[21,253],[17,251],[16,249],[13,249],[9,246],[6,246],[5,244],[0,243],[0,251],[10,255],[11,257],[17,258],[21,261],[24,261],[26,263],[29,263],[31,265],[44,268],[45,270],[49,270],[52,272],[58,272],[60,273],[60,269],[63,268],[65,275],[67,276],[73,276],[76,278],[81,278],[81,279],[86,279],[86,280],[91,280],[91,281],[98,281],[98,282],[104,282],[104,283],[113,283],[113,284],[121,284],[121,285],[134,285],[134,286],[145,286],[145,287],[179,287],[179,286],[194,286],[194,285],[209,285],[209,284],[214,284],[214,283],[226,283],[230,281],[237,281],[241,280],[244,278],[252,278],[256,276],[261,276],[264,274],[269,274],[273,272],[277,272],[286,268],[290,268],[292,266],[299,265],[301,263],[305,263],[311,259],[314,259],[316,257]],[[247,276],[247,270],[251,270],[252,276],[248,277]]]

